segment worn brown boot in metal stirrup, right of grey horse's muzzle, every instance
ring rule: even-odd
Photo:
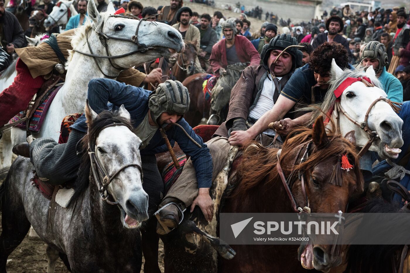
[[[154,214],[158,220],[157,233],[164,235],[176,228],[180,223],[181,211],[182,209],[178,208],[176,203],[165,205],[162,209],[159,209]]]

